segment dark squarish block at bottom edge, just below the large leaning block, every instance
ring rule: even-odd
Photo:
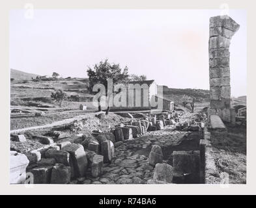
[[[64,164],[55,164],[51,170],[51,183],[66,184],[70,183],[71,167]]]

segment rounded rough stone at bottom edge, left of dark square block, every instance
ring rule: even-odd
[[[173,182],[173,167],[166,163],[158,163],[154,168],[154,181],[165,181],[167,183]]]

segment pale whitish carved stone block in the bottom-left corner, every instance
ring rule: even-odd
[[[24,183],[26,168],[29,165],[27,156],[17,151],[10,151],[10,183]]]

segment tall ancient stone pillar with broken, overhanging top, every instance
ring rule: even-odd
[[[229,45],[239,27],[226,15],[210,18],[210,109],[208,116],[218,114],[224,122],[231,122]]]

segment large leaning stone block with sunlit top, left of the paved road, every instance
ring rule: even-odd
[[[68,144],[64,146],[63,151],[70,153],[74,175],[76,177],[85,176],[87,170],[87,157],[83,146],[81,144]]]

